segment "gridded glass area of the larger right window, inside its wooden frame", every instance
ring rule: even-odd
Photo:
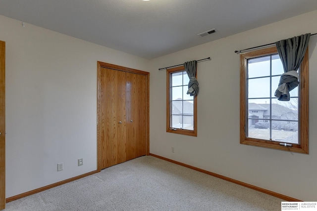
[[[281,74],[273,75],[277,73],[283,73],[277,53],[247,59],[247,112],[257,109],[258,113],[247,117],[247,137],[298,144],[298,107],[292,103],[298,101],[298,93],[291,95],[290,101],[278,101],[274,92]],[[287,125],[286,120],[294,124]]]

